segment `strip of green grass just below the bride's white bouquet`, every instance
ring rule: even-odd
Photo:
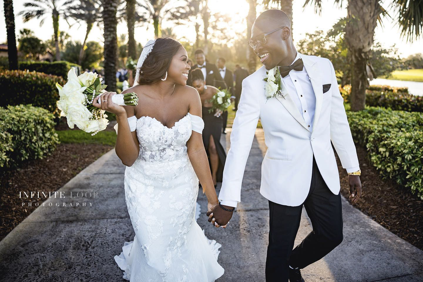
[[[76,129],[76,130],[57,130],[59,141],[61,143],[78,143],[78,144],[100,144],[115,146],[116,132],[103,130],[94,136],[91,133]]]

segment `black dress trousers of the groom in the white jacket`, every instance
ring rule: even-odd
[[[302,205],[313,231],[295,247]],[[341,194],[333,194],[324,182],[313,156],[310,191],[304,203],[292,207],[269,201],[270,231],[266,258],[266,282],[288,282],[289,266],[305,268],[320,260],[343,239]]]

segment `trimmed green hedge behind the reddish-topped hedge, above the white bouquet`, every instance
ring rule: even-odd
[[[37,71],[44,72],[44,74],[53,74],[59,77],[63,77],[65,80],[68,79],[68,71],[72,66],[77,66],[81,68],[80,65],[75,63],[69,63],[67,61],[56,61],[56,62],[36,62],[36,61],[26,61],[19,62],[20,70],[28,71]]]

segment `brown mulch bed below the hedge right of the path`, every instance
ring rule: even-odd
[[[423,201],[393,180],[382,180],[368,159],[365,148],[357,146],[362,194],[354,207],[410,244],[423,250]],[[335,154],[336,155],[336,154]],[[341,194],[348,200],[346,170],[336,155]]]

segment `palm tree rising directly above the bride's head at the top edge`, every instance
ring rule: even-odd
[[[140,0],[138,4],[145,10],[146,18],[153,19],[154,35],[161,36],[162,33],[162,20],[178,10],[183,11],[184,5],[176,5],[174,0]],[[186,4],[186,3],[184,3]]]

